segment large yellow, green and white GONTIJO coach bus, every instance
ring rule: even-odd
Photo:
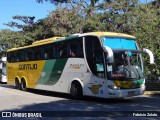
[[[144,94],[142,53],[136,38],[114,32],[73,34],[7,50],[8,84],[70,94],[124,98]]]

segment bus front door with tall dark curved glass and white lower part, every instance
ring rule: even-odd
[[[86,81],[89,81],[87,88],[93,94],[99,93],[99,88],[105,84],[105,67],[103,51],[98,37],[85,37],[85,59],[91,74],[86,74]]]

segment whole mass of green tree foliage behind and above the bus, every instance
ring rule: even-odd
[[[55,9],[48,17],[34,21],[34,16],[13,16],[23,24],[6,25],[20,31],[0,31],[0,42],[10,47],[27,44],[51,36],[68,36],[91,31],[114,31],[137,37],[141,48],[155,55],[155,65],[149,65],[144,54],[146,74],[160,74],[160,2],[139,4],[138,0],[37,0],[51,2]]]

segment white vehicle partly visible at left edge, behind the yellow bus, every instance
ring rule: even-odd
[[[1,63],[0,63],[0,82],[1,83],[7,83],[7,76],[6,76],[6,57],[1,58]]]

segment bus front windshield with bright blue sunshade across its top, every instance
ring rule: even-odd
[[[112,80],[143,78],[143,64],[141,52],[137,50],[134,39],[104,37],[103,46],[108,46],[113,51],[114,63],[112,70],[107,70],[107,77]],[[107,54],[105,56],[107,64]]]

